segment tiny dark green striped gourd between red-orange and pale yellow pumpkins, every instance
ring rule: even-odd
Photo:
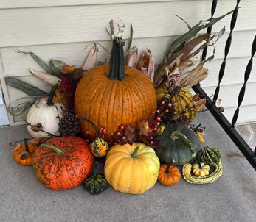
[[[91,194],[100,194],[108,188],[108,182],[101,173],[92,173],[83,182],[83,187]]]

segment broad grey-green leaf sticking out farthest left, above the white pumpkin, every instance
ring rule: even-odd
[[[44,92],[43,90],[30,85],[27,82],[21,81],[20,79],[16,79],[11,76],[6,76],[5,81],[7,85],[15,87],[18,90],[26,93],[28,96],[47,96],[49,93]]]

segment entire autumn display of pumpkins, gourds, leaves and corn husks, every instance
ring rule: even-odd
[[[31,98],[10,111],[20,115],[28,110],[25,121],[34,137],[10,144],[15,161],[33,165],[37,178],[53,190],[83,183],[93,194],[109,185],[139,194],[157,180],[166,186],[179,182],[177,166],[183,166],[187,182],[215,182],[222,174],[221,154],[218,148],[200,149],[204,127],[193,120],[196,112],[205,110],[205,99],[188,88],[207,77],[204,63],[213,55],[197,65],[193,57],[213,46],[224,29],[218,35],[198,32],[224,16],[193,27],[187,24],[189,31],[170,44],[157,71],[149,49],[139,57],[136,46],[131,48],[132,26],[124,52],[124,26],[119,24],[114,33],[113,21],[108,32],[111,56],[105,65],[95,66],[97,43],[81,68],[53,59],[47,64],[33,52],[18,50],[41,65],[44,72],[30,69],[30,73],[52,85],[52,90],[44,92],[7,76],[7,85]],[[104,173],[94,173],[99,162]]]

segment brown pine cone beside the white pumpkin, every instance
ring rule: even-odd
[[[80,122],[75,114],[66,112],[60,119],[60,135],[76,135],[80,132]]]

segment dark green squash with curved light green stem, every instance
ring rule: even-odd
[[[156,149],[161,162],[184,165],[196,157],[200,147],[198,136],[183,123],[167,123],[162,135],[154,137],[163,148]]]

